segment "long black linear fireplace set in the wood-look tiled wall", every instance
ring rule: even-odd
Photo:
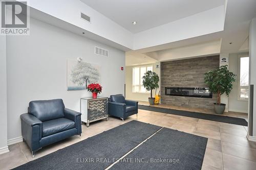
[[[197,87],[165,87],[165,95],[212,98],[212,93],[208,88]]]

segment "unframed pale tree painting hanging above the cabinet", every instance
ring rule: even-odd
[[[99,83],[99,66],[87,63],[68,60],[67,66],[68,90],[87,89],[88,84]]]

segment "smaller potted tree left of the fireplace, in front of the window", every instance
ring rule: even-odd
[[[143,86],[147,91],[150,91],[150,98],[148,98],[150,105],[154,105],[155,98],[152,97],[152,90],[159,87],[158,82],[159,77],[156,72],[153,71],[146,71],[142,77]]]

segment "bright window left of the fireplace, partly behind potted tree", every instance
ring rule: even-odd
[[[140,66],[140,67],[133,67],[133,92],[139,93],[146,93],[148,92],[142,84],[142,77],[144,76],[145,72],[151,70],[153,71],[153,66]]]

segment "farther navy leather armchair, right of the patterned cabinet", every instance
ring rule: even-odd
[[[138,102],[125,100],[122,94],[110,95],[109,114],[122,120],[133,114],[138,115]]]

